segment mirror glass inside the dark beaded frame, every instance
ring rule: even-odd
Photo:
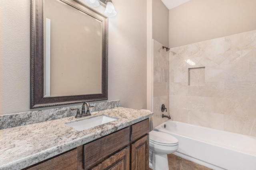
[[[44,25],[44,96],[101,93],[102,21],[44,0]]]

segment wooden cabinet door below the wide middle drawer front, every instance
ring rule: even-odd
[[[94,166],[92,170],[129,170],[130,147],[113,154],[100,164]]]

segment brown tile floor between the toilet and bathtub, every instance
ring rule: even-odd
[[[211,170],[174,154],[168,154],[168,163],[170,170]],[[149,168],[149,170],[152,169]]]

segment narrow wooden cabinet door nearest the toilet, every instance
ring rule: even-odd
[[[148,170],[149,135],[131,145],[131,170]]]

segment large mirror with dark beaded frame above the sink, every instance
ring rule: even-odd
[[[31,0],[30,108],[108,99],[108,18],[79,0]]]

